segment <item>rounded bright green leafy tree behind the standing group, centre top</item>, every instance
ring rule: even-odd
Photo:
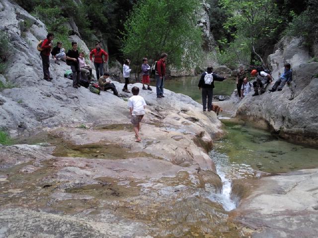
[[[193,66],[202,45],[193,14],[198,7],[197,0],[140,0],[124,25],[122,52],[136,64],[166,52],[177,69]]]

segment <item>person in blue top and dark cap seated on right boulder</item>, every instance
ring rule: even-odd
[[[293,81],[293,72],[292,72],[290,63],[286,63],[284,67],[285,67],[284,73],[280,75],[279,79],[274,83],[272,89],[269,89],[269,91],[275,92],[276,89],[277,91],[282,91],[283,87],[287,83],[287,85],[289,86],[291,90],[291,97],[289,98],[289,100],[293,100],[295,97],[295,91],[296,91],[296,84]]]

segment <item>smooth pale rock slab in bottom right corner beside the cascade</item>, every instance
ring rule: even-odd
[[[260,179],[243,200],[236,218],[253,238],[311,238],[318,233],[318,170]]]

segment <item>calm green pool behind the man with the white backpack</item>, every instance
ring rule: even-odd
[[[164,82],[164,88],[175,93],[188,95],[193,100],[201,103],[201,91],[198,88],[199,80],[200,76],[167,79]],[[236,89],[236,81],[234,78],[228,78],[222,82],[215,81],[214,86],[214,95],[230,96],[233,90]]]

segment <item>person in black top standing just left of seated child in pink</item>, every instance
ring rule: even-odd
[[[72,42],[72,50],[69,50],[66,54],[67,64],[71,66],[72,69],[72,78],[73,78],[73,87],[79,88],[79,80],[80,80],[80,67],[79,67],[79,51],[78,51],[78,43]]]

